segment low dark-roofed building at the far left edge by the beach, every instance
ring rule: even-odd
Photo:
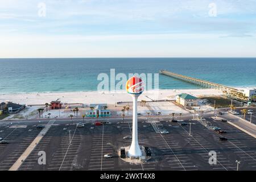
[[[26,105],[15,104],[13,102],[2,102],[0,104],[1,113],[16,114],[23,110]]]

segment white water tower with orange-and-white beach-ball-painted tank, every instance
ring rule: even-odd
[[[131,146],[128,151],[128,156],[138,158],[142,156],[142,152],[141,148],[139,148],[138,143],[137,102],[138,97],[142,94],[144,90],[144,82],[141,78],[133,76],[126,82],[126,90],[127,93],[129,93],[133,98],[133,139],[131,141]]]

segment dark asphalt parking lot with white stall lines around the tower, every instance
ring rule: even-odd
[[[118,156],[119,148],[127,147],[131,139],[131,119],[125,122],[113,121],[100,126],[86,123],[77,127],[76,123],[58,122],[51,126],[19,170],[236,170],[236,160],[241,161],[240,170],[256,170],[255,138],[243,133],[226,122],[207,118],[209,125],[221,127],[226,134],[209,130],[198,121],[161,122],[139,119],[138,138],[141,146],[151,149],[151,158],[144,163],[128,163]],[[191,123],[191,135],[189,135]],[[159,129],[169,133],[161,134]],[[0,127],[0,137],[9,144],[0,145],[0,169],[8,170],[40,133],[36,125],[26,127]],[[220,141],[225,136],[227,141]],[[46,152],[46,165],[38,163],[38,152]],[[209,164],[209,152],[215,151],[216,164]],[[105,154],[113,158],[105,159]]]

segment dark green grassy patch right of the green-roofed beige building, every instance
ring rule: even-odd
[[[200,97],[200,99],[207,99],[210,106],[214,106],[214,101],[216,101],[215,107],[218,107],[218,108],[229,107],[229,105],[231,104],[231,100],[229,98],[224,98],[224,97],[212,96],[212,97]],[[233,102],[233,105],[240,106],[239,104],[235,104],[234,102]]]

